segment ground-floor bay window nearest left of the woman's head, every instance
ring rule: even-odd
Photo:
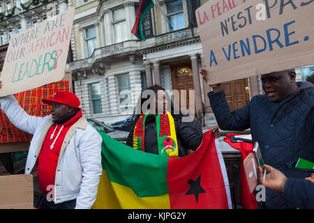
[[[131,101],[130,77],[129,75],[117,75],[116,82],[120,112],[130,112],[133,107]]]

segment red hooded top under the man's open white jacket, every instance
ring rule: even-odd
[[[77,120],[79,120],[81,117],[82,110],[80,110],[80,112],[78,112],[73,118],[71,118],[66,123],[63,123],[61,125],[57,124],[52,125],[49,131],[47,132],[45,141],[43,142],[43,147],[41,148],[41,151],[38,156],[38,169],[37,169],[39,188],[46,195],[47,193],[51,192],[54,186],[57,164],[59,160],[59,153],[61,150],[61,146],[63,144],[63,140],[66,137],[66,132],[68,132],[70,127],[74,123],[76,123]],[[50,149],[51,148],[50,146],[52,146],[53,143],[54,146],[52,149]],[[51,186],[48,187],[49,185]]]

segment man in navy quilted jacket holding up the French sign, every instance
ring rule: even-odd
[[[200,73],[206,81],[207,70]],[[211,85],[211,108],[222,130],[251,128],[253,144],[260,145],[266,164],[288,178],[306,178],[308,171],[294,168],[299,157],[314,162],[314,86],[296,82],[294,69],[262,75],[264,95],[256,95],[241,109],[230,112],[222,84]],[[282,194],[267,190],[259,208],[287,208]]]

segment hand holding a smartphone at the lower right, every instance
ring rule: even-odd
[[[274,190],[276,192],[282,193],[283,189],[285,188],[285,182],[287,181],[285,174],[281,173],[281,171],[278,169],[266,164],[264,164],[263,167],[269,171],[269,174],[267,174],[264,179],[263,169],[262,167],[258,167],[258,182],[264,185],[268,190]]]

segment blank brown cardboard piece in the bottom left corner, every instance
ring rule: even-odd
[[[0,209],[33,209],[33,176],[0,176]]]

